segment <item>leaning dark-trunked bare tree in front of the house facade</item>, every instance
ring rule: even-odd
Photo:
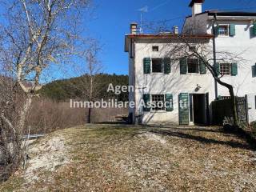
[[[213,38],[213,37],[212,37]],[[212,45],[209,43],[209,37],[205,39],[197,38],[193,34],[181,34],[177,36],[177,40],[174,42],[168,51],[168,56],[174,61],[179,62],[182,58],[198,58],[198,60],[206,66],[206,69],[210,71],[210,74],[219,85],[225,86],[230,93],[232,101],[233,123],[234,126],[238,126],[238,113],[236,108],[236,98],[234,95],[234,87],[227,82],[222,81],[223,75],[216,69],[213,54]],[[216,51],[218,62],[242,62],[242,53],[234,54],[228,51]]]

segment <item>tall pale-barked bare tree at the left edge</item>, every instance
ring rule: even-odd
[[[10,170],[22,159],[26,114],[41,88],[40,80],[46,77],[44,71],[75,54],[82,15],[89,5],[88,0],[2,1],[6,12],[1,19],[0,59],[10,83],[1,100],[1,150],[10,154],[5,160]],[[24,100],[17,107],[21,95]]]

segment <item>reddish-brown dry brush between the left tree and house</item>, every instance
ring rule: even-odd
[[[26,118],[26,131],[30,126],[31,134],[45,134],[66,127],[86,123],[88,109],[70,108],[70,102],[54,102],[47,98],[34,98]],[[127,108],[93,109],[92,122],[110,122],[118,114],[127,114]]]

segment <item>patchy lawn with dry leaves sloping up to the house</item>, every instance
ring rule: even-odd
[[[0,191],[255,191],[256,152],[218,127],[86,125],[30,146]]]

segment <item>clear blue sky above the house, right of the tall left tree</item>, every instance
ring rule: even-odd
[[[138,9],[148,6],[143,14],[145,22],[170,20],[168,26],[182,26],[191,14],[190,0],[94,0],[93,18],[87,24],[89,33],[102,44],[100,59],[104,71],[110,74],[128,74],[128,56],[124,52],[124,35],[130,31],[130,22],[139,22]],[[256,11],[255,0],[206,0],[203,10]]]

